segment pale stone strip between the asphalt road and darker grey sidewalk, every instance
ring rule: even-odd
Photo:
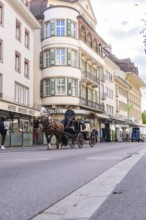
[[[89,220],[145,153],[141,150],[119,162],[32,220]]]

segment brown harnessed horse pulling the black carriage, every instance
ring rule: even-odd
[[[47,140],[48,149],[51,149],[50,142],[53,135],[56,137],[57,148],[61,149],[64,125],[60,121],[49,119],[46,115],[40,117],[39,123],[42,125],[42,130]]]

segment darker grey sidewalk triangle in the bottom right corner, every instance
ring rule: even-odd
[[[146,153],[90,220],[146,220]]]

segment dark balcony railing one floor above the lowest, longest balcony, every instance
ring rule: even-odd
[[[99,78],[94,76],[92,73],[88,71],[82,72],[82,82],[86,82],[87,84],[91,84],[94,87],[98,87],[99,85]]]

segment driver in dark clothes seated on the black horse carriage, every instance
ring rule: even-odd
[[[72,110],[72,106],[68,105],[62,123],[64,124],[64,126],[66,125],[66,128],[69,128],[74,118],[75,112],[74,110]]]

